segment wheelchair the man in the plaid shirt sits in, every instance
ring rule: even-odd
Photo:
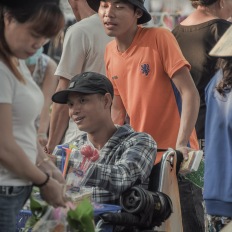
[[[154,165],[148,190],[132,187],[125,191],[120,198],[122,211],[101,214],[97,228],[111,225],[107,232],[183,232],[177,182],[182,160],[179,151],[169,148]]]

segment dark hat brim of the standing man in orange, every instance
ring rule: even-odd
[[[151,15],[147,11],[147,9],[144,7],[143,3],[140,3],[138,1],[134,0],[127,0],[129,3],[131,3],[134,6],[137,6],[143,11],[143,15],[138,19],[137,24],[144,24],[151,20]],[[100,0],[87,0],[88,5],[95,11],[98,12],[99,6],[100,6]]]

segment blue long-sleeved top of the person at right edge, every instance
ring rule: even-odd
[[[210,215],[232,217],[232,92],[219,94],[219,70],[205,90],[204,200]]]

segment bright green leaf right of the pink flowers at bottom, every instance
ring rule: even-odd
[[[69,210],[67,220],[71,228],[82,232],[94,232],[93,206],[84,199],[75,210]]]

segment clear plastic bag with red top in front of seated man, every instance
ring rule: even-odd
[[[85,187],[85,184],[99,160],[98,150],[90,144],[78,147],[74,142],[56,146],[53,155],[66,178],[67,199],[76,205],[84,198],[91,200],[92,188]]]

